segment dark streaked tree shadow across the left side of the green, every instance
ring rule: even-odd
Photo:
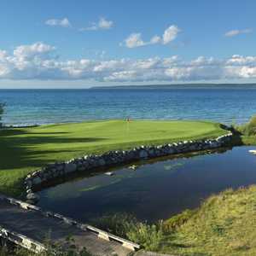
[[[83,143],[85,151],[86,143],[106,140],[101,137],[61,137],[62,133],[67,134],[68,132],[34,133],[29,130],[16,129],[0,131],[0,170],[28,166],[42,167],[60,159],[62,154],[64,157],[70,153],[71,158],[72,154],[80,151],[79,143]],[[76,147],[76,143],[78,143],[78,147]],[[48,144],[55,144],[56,149]],[[70,147],[70,144],[73,144],[73,147]]]

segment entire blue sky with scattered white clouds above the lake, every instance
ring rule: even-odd
[[[0,88],[256,82],[255,0],[2,0]]]

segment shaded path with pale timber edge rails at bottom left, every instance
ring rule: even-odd
[[[44,250],[44,241],[65,244],[68,236],[78,248],[93,255],[128,255],[139,246],[87,224],[79,224],[53,212],[0,196],[0,236],[35,252]]]

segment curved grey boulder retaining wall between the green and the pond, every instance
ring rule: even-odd
[[[39,197],[33,193],[34,189],[73,172],[88,172],[92,169],[117,166],[136,160],[220,148],[229,143],[232,136],[232,133],[228,133],[209,140],[182,141],[159,146],[140,146],[125,151],[110,151],[101,155],[84,155],[78,159],[50,164],[27,175],[25,178],[26,200],[29,203],[36,203]]]

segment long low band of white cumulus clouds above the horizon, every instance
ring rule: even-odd
[[[200,81],[255,79],[256,56],[232,55],[219,60],[199,56],[184,61],[167,58],[119,60],[61,60],[54,46],[41,42],[0,49],[0,79],[95,80],[108,82]]]

